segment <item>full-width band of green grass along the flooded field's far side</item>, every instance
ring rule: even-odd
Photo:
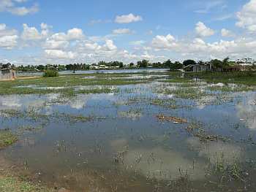
[[[132,73],[131,73],[132,74]],[[60,75],[59,77],[37,77],[34,79],[20,79],[9,82],[0,83],[0,95],[10,95],[10,94],[47,94],[47,93],[63,93],[69,95],[75,95],[78,93],[111,93],[108,88],[96,88],[93,90],[83,90],[75,91],[75,86],[86,86],[86,85],[135,85],[141,83],[152,82],[154,78],[147,80],[138,80],[136,78],[130,77],[127,73],[122,74],[68,74]],[[162,80],[162,82],[171,82],[171,83],[181,83],[178,86],[190,87],[195,85],[194,79],[202,79],[207,82],[224,82],[224,83],[237,83],[246,85],[247,88],[239,87],[237,91],[247,89],[248,86],[256,85],[256,72],[229,72],[229,73],[220,73],[220,72],[187,72],[182,74],[181,72],[167,72],[167,73],[138,73],[137,75],[148,75],[148,74],[162,74],[169,75],[169,80]],[[134,74],[133,74],[134,75]],[[89,78],[89,77],[94,78]],[[88,77],[88,78],[87,78]],[[111,79],[111,77],[120,77],[118,79]],[[159,77],[157,77],[159,78]],[[34,86],[34,87],[31,87]],[[227,86],[225,86],[227,87]],[[214,88],[212,88],[214,89]],[[216,88],[217,89],[217,88]],[[227,88],[222,88],[226,89]],[[224,90],[225,91],[225,90]],[[181,91],[178,91],[181,93]],[[187,99],[190,97],[195,97],[195,94],[192,93],[193,90],[188,90],[191,94],[188,96],[186,93],[181,93],[181,98]],[[195,92],[195,91],[194,91]]]

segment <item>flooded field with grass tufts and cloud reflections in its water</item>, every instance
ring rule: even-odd
[[[1,161],[26,180],[53,191],[256,191],[255,85],[153,71],[3,83],[0,128],[17,141]]]

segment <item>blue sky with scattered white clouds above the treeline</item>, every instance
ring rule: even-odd
[[[256,0],[0,0],[0,63],[256,58]]]

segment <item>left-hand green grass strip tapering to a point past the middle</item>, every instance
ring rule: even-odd
[[[86,78],[88,75],[61,75],[59,77],[38,77],[36,79],[15,80],[0,83],[0,95],[10,94],[47,94],[47,93],[110,93],[112,90],[108,88],[96,88],[86,91],[75,91],[75,86],[89,85],[135,85],[146,83],[146,80],[135,79],[108,79],[106,77],[114,77],[117,74],[94,74],[96,78]],[[113,76],[111,76],[113,75]],[[124,75],[124,74],[118,74]],[[127,74],[125,74],[127,75]],[[122,76],[121,76],[122,77]],[[34,86],[34,87],[31,87]]]

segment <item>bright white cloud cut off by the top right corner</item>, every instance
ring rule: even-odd
[[[251,33],[256,32],[256,0],[250,0],[236,16],[238,18],[236,26],[246,28]]]

